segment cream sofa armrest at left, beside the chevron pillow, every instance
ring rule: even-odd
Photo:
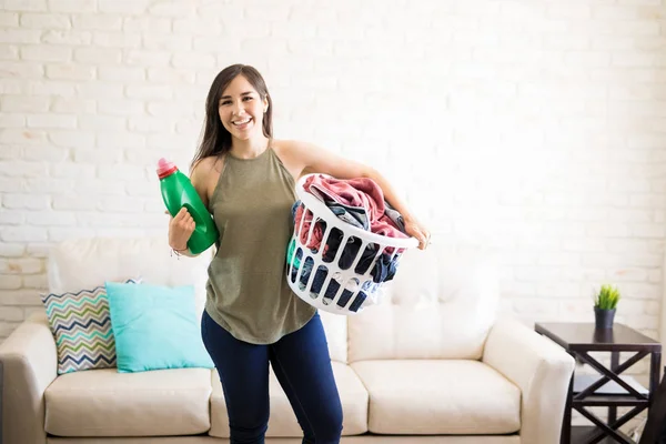
[[[44,391],[58,375],[56,340],[46,314],[36,313],[0,344],[2,443],[44,444]]]

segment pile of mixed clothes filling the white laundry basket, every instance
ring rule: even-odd
[[[306,192],[322,201],[340,220],[352,226],[389,238],[408,238],[405,234],[402,215],[384,200],[384,193],[381,188],[371,179],[340,180],[322,174],[313,174],[305,180],[303,188]],[[323,262],[332,263],[344,239],[343,232],[337,228],[332,228],[329,239],[324,240],[326,223],[317,219],[314,221],[312,235],[310,235],[310,229],[313,223],[312,213],[306,211],[300,201],[292,208],[292,218],[295,230],[300,228],[300,243],[305,245],[310,253],[317,253],[320,249],[323,249]],[[303,261],[303,253],[301,253],[301,250],[294,251],[295,246],[295,241],[292,241],[287,251],[287,263],[291,265],[291,281],[296,281],[299,270],[303,266],[299,284],[302,289],[305,289],[312,274],[314,261],[307,255],[307,252],[305,252],[306,258]],[[345,306],[354,293],[357,292],[356,297],[349,307],[350,311],[356,312],[363,305],[369,294],[373,294],[381,283],[392,280],[395,275],[397,260],[402,250],[394,251],[393,248],[386,246],[383,251],[380,251],[380,245],[367,243],[365,250],[360,253],[361,246],[361,239],[353,235],[349,236],[346,244],[343,246],[344,250],[340,255],[337,266],[341,270],[349,270],[356,256],[361,254],[354,272],[361,278],[372,266],[370,272],[372,280],[366,280],[362,283],[360,279],[353,279],[351,282],[345,283],[341,282],[340,278],[334,274],[324,291],[324,304],[333,300],[341,285],[345,285],[337,300],[337,305]],[[327,274],[329,269],[324,265],[320,265],[315,271],[310,289],[313,299],[317,297],[321,293]]]

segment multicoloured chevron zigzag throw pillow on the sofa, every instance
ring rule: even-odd
[[[41,294],[41,300],[56,337],[58,374],[115,367],[115,340],[104,285],[77,293]]]

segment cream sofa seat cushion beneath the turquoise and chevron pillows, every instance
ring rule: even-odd
[[[57,436],[162,436],[210,428],[211,371],[89,370],[47,389],[46,431]]]

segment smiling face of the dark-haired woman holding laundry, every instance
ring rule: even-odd
[[[262,135],[268,99],[252,87],[245,77],[236,75],[222,91],[218,104],[222,125],[239,140]]]

